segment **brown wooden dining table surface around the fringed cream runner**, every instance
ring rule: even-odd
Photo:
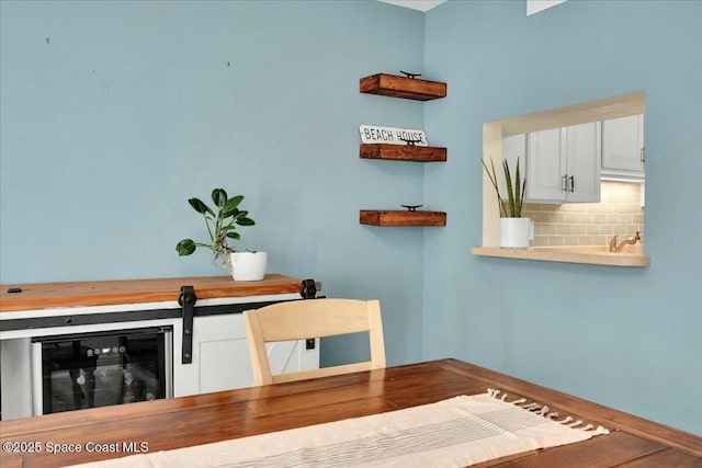
[[[548,404],[610,434],[474,466],[702,467],[702,437],[452,358],[2,421],[0,466],[56,467],[192,447],[479,395],[488,388]]]

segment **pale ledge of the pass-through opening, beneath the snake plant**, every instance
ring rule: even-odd
[[[500,249],[474,247],[471,253],[482,256],[537,260],[544,262],[585,263],[605,266],[648,266],[650,258],[641,252],[609,252],[605,247],[530,247],[526,249]]]

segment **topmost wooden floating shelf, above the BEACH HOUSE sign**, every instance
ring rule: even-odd
[[[446,83],[420,80],[418,78],[377,73],[361,78],[359,91],[362,93],[380,94],[390,98],[431,101],[432,99],[446,96]]]

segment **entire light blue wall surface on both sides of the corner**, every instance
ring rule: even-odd
[[[220,274],[173,247],[224,186],[270,271],[382,300],[389,364],[455,356],[702,434],[701,25],[700,2],[2,1],[0,282]],[[400,69],[448,99],[358,92]],[[469,254],[484,122],[639,90],[649,269]],[[449,160],[360,160],[360,124],[423,126]],[[358,224],[400,203],[448,227]]]

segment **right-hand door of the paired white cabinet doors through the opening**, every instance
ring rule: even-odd
[[[599,123],[575,125],[566,132],[566,201],[600,201],[601,130]]]

